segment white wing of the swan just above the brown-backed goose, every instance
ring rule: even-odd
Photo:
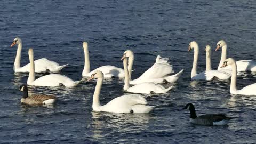
[[[67,76],[50,74],[37,78],[31,85],[35,86],[59,86],[63,84],[67,87],[74,86],[75,82]]]

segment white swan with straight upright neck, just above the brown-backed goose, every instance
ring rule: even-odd
[[[28,50],[28,55],[29,55],[29,62],[30,62],[30,71],[29,71],[29,76],[27,81],[28,85],[35,85],[35,86],[63,85],[66,87],[73,87],[84,81],[84,79],[82,79],[81,81],[74,82],[72,79],[68,78],[67,76],[63,76],[60,74],[50,74],[50,75],[42,76],[35,79],[35,63],[34,63],[33,49]]]

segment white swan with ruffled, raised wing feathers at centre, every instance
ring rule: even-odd
[[[164,81],[167,81],[169,83],[174,83],[179,79],[179,77],[183,72],[183,69],[182,69],[179,73],[169,76],[168,74],[174,73],[172,69],[172,65],[170,65],[170,63],[167,62],[166,60],[161,60],[160,62],[156,62],[153,66],[151,66],[139,78],[134,79],[132,81],[131,75],[132,75],[132,66],[134,61],[133,52],[131,50],[125,51],[121,60],[123,60],[124,58],[128,58],[129,79],[130,79],[130,84],[132,85],[145,83],[145,82],[163,83]]]

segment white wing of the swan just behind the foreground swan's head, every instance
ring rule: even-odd
[[[111,77],[123,78],[124,77],[124,70],[122,68],[117,68],[117,67],[109,66],[109,65],[94,69],[86,76],[91,76],[97,70],[102,71],[102,73],[104,74],[104,77],[108,77],[108,78],[111,78]]]

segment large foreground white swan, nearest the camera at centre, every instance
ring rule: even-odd
[[[106,111],[112,113],[149,113],[155,106],[146,106],[147,100],[138,94],[129,94],[117,97],[109,101],[106,105],[100,105],[100,90],[104,75],[101,71],[94,71],[91,79],[98,78],[93,94],[92,109],[94,111]]]

